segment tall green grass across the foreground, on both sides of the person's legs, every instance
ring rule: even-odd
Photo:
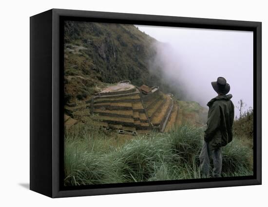
[[[89,131],[83,128],[65,136],[66,186],[200,178],[200,128],[181,126],[121,145],[115,138]],[[252,174],[250,160],[252,149],[234,138],[223,148],[222,175]]]

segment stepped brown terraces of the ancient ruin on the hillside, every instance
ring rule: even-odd
[[[159,87],[134,86],[122,81],[102,89],[91,98],[90,113],[106,130],[119,134],[163,132],[178,120],[178,105],[172,94]]]

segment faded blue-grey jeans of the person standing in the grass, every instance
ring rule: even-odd
[[[221,148],[211,150],[209,143],[203,141],[203,147],[199,155],[200,173],[202,178],[210,177],[210,158],[213,159],[213,177],[221,177],[222,171],[222,150]]]

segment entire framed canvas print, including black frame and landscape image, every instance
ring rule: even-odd
[[[30,189],[261,184],[261,22],[52,9],[30,18]]]

